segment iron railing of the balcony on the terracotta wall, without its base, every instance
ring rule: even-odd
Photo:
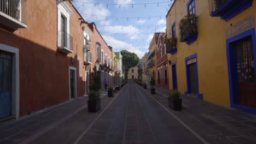
[[[67,49],[73,51],[73,37],[65,31],[59,31],[58,34],[59,47],[66,47]]]

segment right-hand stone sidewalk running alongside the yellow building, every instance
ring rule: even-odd
[[[150,90],[146,90],[150,93]],[[153,97],[168,107],[168,91],[156,87]],[[174,112],[210,143],[256,143],[256,116],[230,107],[224,107],[197,99],[193,95],[182,95],[183,110]]]

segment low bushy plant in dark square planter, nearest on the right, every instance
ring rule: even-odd
[[[168,97],[169,107],[174,111],[182,110],[182,99],[179,98],[181,94],[175,90],[174,91],[170,90],[168,94],[169,94],[169,97]]]

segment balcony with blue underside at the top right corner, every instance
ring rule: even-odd
[[[219,16],[228,21],[252,6],[252,0],[210,0],[211,16]]]

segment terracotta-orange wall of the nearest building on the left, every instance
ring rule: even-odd
[[[70,35],[74,52],[68,55],[57,50],[56,1],[27,0],[27,28],[13,32],[0,26],[0,43],[19,49],[20,116],[69,100],[69,66],[77,68],[77,96],[85,94],[85,24],[80,25],[79,14],[66,3],[73,10]]]

